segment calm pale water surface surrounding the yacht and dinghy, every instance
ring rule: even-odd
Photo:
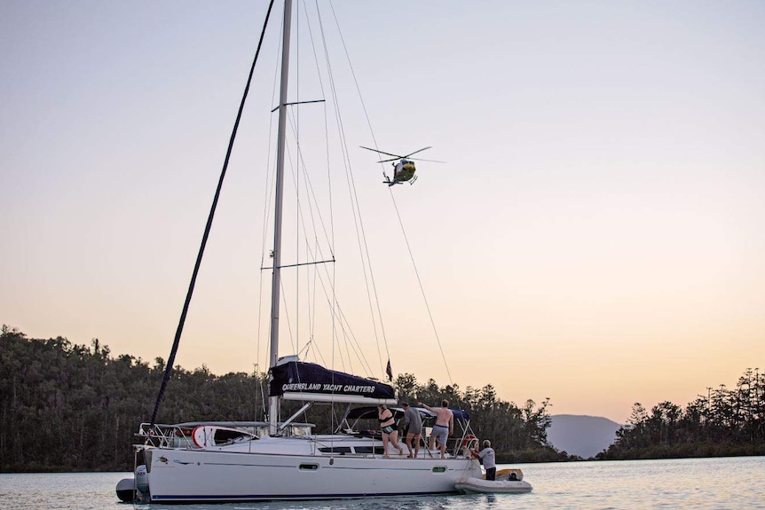
[[[503,508],[762,508],[765,457],[525,464],[530,494],[367,498],[323,502],[138,506],[199,510],[501,510]],[[501,467],[510,467],[501,466]],[[500,468],[501,468],[500,467]],[[130,474],[0,475],[0,508],[126,510],[114,486]]]

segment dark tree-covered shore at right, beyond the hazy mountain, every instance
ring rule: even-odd
[[[648,412],[635,403],[616,435],[596,459],[765,455],[765,375],[748,368],[736,388],[707,388],[685,409],[662,402]]]

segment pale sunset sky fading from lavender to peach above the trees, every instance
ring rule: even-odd
[[[624,422],[635,402],[685,405],[765,369],[765,3],[319,4],[353,68],[327,35],[384,321],[375,341],[364,279],[342,272],[359,247],[333,182],[338,299],[366,375],[390,353],[421,382]],[[0,0],[0,323],[167,359],[266,5]],[[280,15],[186,321],[188,369],[267,365]],[[320,98],[318,31],[295,29],[291,96]],[[375,140],[445,163],[389,189],[359,148]],[[281,354],[311,334],[307,304],[287,310]],[[313,331],[321,357],[347,369],[331,334]]]

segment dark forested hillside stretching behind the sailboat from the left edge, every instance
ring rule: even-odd
[[[29,339],[3,326],[0,472],[132,470],[134,434],[151,419],[164,371],[161,357],[153,363],[113,357],[97,339],[90,346],[60,336]],[[217,376],[204,365],[192,371],[177,365],[158,422],[265,420],[267,381],[258,370]],[[548,399],[518,406],[499,399],[492,385],[439,387],[432,379],[419,384],[409,373],[398,375],[394,385],[401,400],[438,405],[446,398],[468,411],[474,433],[492,440],[499,461],[565,458],[547,443]],[[298,405],[286,402],[283,414]],[[318,405],[305,420],[329,432],[339,411]]]

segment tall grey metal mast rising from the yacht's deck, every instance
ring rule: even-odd
[[[273,219],[273,274],[271,287],[271,366],[279,361],[279,302],[281,287],[281,209],[284,194],[284,145],[287,132],[287,86],[289,74],[289,31],[292,0],[284,0],[284,27],[281,40],[281,87],[279,93],[279,132],[276,149],[276,200]],[[277,433],[279,397],[268,397],[268,433]]]

